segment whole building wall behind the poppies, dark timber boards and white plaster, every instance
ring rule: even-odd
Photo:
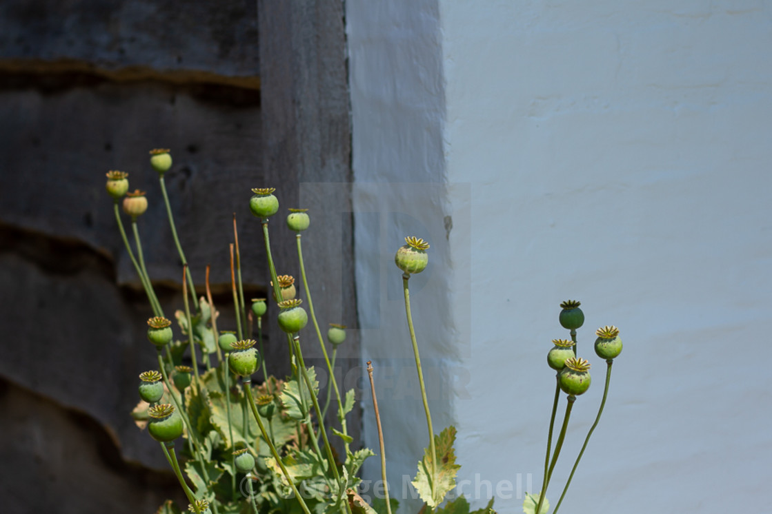
[[[411,279],[416,330],[474,508],[496,496],[521,512],[540,488],[545,357],[571,299],[594,385],[553,505],[602,394],[594,331],[615,324],[625,350],[562,509],[767,512],[770,49],[772,8],[755,0],[4,2],[3,512],[154,512],[179,496],[128,415],[150,310],[103,190],[115,169],[147,190],[148,268],[178,308],[155,147],[172,150],[178,231],[197,283],[212,264],[224,320],[233,213],[248,294],[266,291],[249,189],[310,207],[317,311],[355,328],[350,426],[378,448],[361,389],[373,361],[401,512],[421,506],[408,482],[427,444],[393,264],[408,235],[432,245]],[[291,237],[273,233],[296,274]],[[374,494],[377,459],[363,477]]]

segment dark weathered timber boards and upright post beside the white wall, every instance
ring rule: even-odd
[[[103,189],[107,170],[147,190],[140,230],[167,313],[181,307],[181,266],[147,163],[154,147],[172,149],[166,182],[181,244],[197,284],[212,265],[221,328],[233,328],[233,213],[245,297],[266,294],[247,207],[257,186],[275,186],[282,209],[310,207],[312,293],[340,298],[317,301],[317,316],[355,326],[347,186],[299,205],[304,183],[350,182],[349,133],[340,5],[3,2],[0,326],[12,335],[0,340],[0,490],[13,499],[4,512],[152,512],[178,496],[157,445],[128,415],[138,373],[154,367],[151,311]],[[283,224],[280,212],[279,272],[299,276]],[[267,325],[267,358],[284,361]],[[352,341],[342,372],[355,355]]]

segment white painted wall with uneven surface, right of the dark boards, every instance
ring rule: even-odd
[[[539,488],[545,355],[575,298],[594,385],[553,503],[602,393],[592,332],[616,324],[625,351],[560,512],[769,512],[770,3],[347,0],[347,31],[363,357],[395,496],[428,438],[391,261],[415,234],[432,243],[411,279],[418,338],[459,479]],[[364,430],[377,448],[372,415]]]

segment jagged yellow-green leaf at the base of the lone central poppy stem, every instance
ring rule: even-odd
[[[455,487],[455,474],[461,466],[455,463],[454,441],[454,426],[449,426],[439,435],[435,435],[436,455],[431,455],[431,446],[424,450],[424,458],[418,462],[418,474],[411,482],[421,499],[432,509],[439,506],[445,499],[445,495]],[[433,480],[430,477],[432,461],[436,462],[435,471],[437,473]]]

